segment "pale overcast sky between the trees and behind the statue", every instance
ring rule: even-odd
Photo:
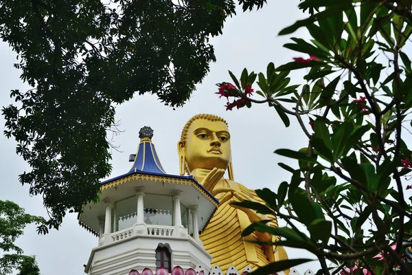
[[[284,49],[288,37],[277,36],[279,30],[307,16],[297,9],[298,0],[269,1],[258,12],[242,13],[228,19],[222,36],[211,40],[216,50],[217,62],[211,64],[211,72],[183,108],[173,111],[165,107],[154,96],[135,96],[133,100],[116,108],[116,119],[124,131],[115,137],[115,144],[123,153],[113,151],[113,171],[111,177],[126,173],[131,164],[128,155],[135,153],[139,142],[138,132],[142,126],[151,126],[155,131],[152,138],[157,153],[167,173],[179,174],[176,143],[185,122],[196,113],[220,115],[229,123],[233,151],[233,169],[236,181],[253,189],[271,188],[290,179],[290,174],[277,166],[285,162],[297,166],[295,162],[275,155],[277,148],[299,149],[306,146],[306,138],[291,118],[291,126],[286,129],[275,109],[266,105],[254,105],[252,109],[225,111],[225,100],[218,99],[216,83],[229,81],[227,70],[236,76],[244,67],[249,71],[266,72],[269,62],[275,66],[292,61],[298,53]],[[308,37],[299,30],[294,36]],[[12,103],[11,89],[29,89],[21,83],[20,72],[14,69],[16,54],[8,45],[0,43],[0,105]],[[304,72],[290,74],[293,83],[303,83]],[[257,87],[255,87],[257,88]],[[3,129],[4,120],[0,118]],[[2,131],[1,131],[2,132]],[[0,199],[9,199],[26,208],[27,212],[46,215],[41,197],[30,197],[27,186],[21,186],[18,175],[28,168],[15,153],[16,143],[0,135]],[[17,241],[25,254],[34,254],[41,274],[80,275],[84,274],[83,264],[87,263],[91,249],[98,245],[98,239],[78,225],[77,214],[67,214],[60,230],[38,236],[34,225],[27,227],[25,235]],[[290,258],[310,256],[297,250],[287,249]],[[314,259],[314,256],[310,256]],[[299,272],[308,268],[317,271],[316,262],[301,265]]]

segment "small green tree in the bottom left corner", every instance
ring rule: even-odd
[[[19,275],[40,274],[34,256],[24,255],[14,242],[27,224],[44,222],[42,217],[26,214],[12,201],[0,200],[0,251],[5,253],[0,257],[0,275],[11,274],[13,270],[18,270]]]

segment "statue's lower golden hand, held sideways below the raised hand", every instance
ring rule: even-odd
[[[229,201],[230,206],[237,208],[239,210],[242,210],[242,212],[246,213],[247,216],[249,217],[251,223],[255,221],[262,221],[262,219],[267,219],[267,217],[263,214],[258,214],[255,210],[249,209],[249,208],[244,208],[242,206],[236,206],[233,205],[233,202],[241,202],[241,201],[253,201],[258,203],[255,199],[252,197],[247,197],[243,195],[241,192],[238,192],[237,190],[234,190],[233,188],[218,188],[216,190],[213,190],[211,192],[212,195],[216,197],[216,195],[220,193],[225,193],[223,197],[219,199],[219,204],[223,204],[226,201]]]

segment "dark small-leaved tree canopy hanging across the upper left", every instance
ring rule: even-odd
[[[265,0],[5,0],[0,37],[29,91],[11,91],[5,135],[30,172],[20,175],[49,213],[39,228],[58,228],[67,210],[98,199],[109,175],[114,104],[155,94],[181,106],[215,61],[210,36],[225,19]],[[112,129],[113,130],[113,129]]]

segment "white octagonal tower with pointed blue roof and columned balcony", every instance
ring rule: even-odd
[[[85,272],[126,275],[148,267],[170,274],[183,270],[209,273],[211,255],[199,239],[218,200],[192,176],[168,175],[152,144],[153,131],[144,127],[133,167],[124,175],[103,181],[100,202],[83,207],[78,220],[99,237]]]

